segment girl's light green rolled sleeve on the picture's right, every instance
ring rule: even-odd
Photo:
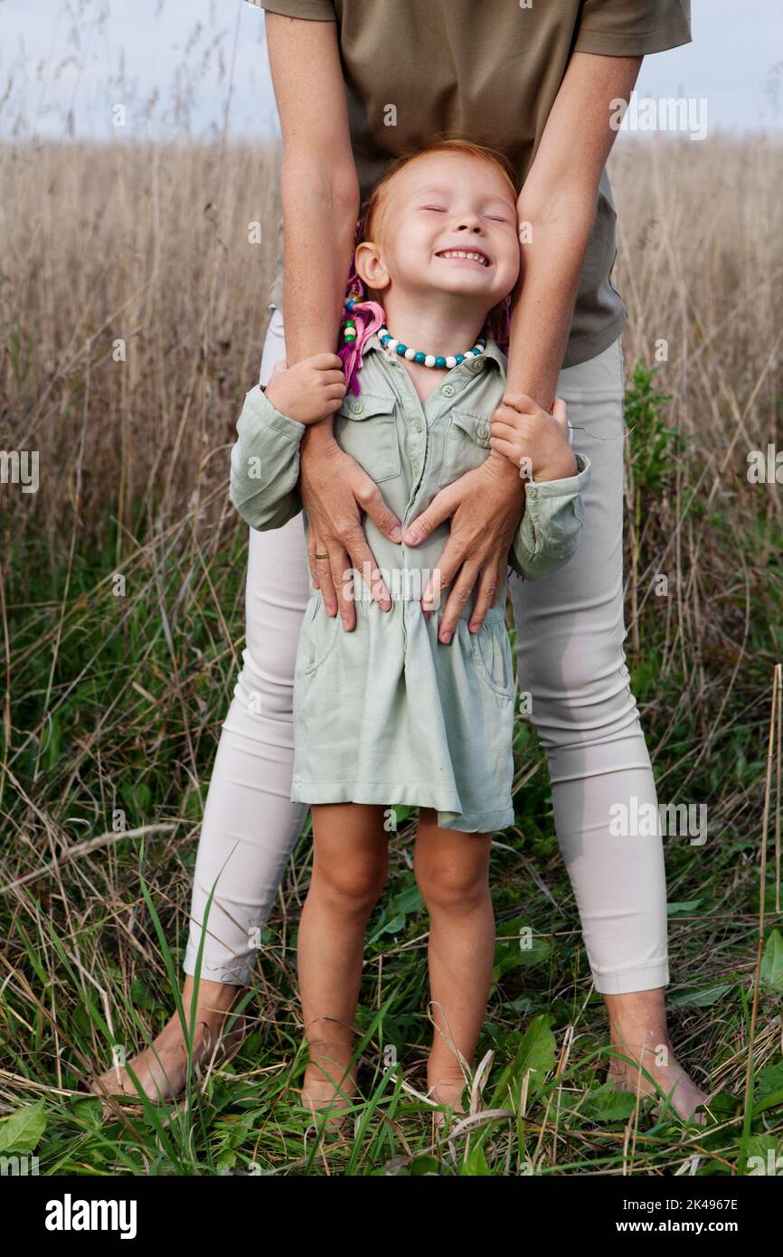
[[[528,581],[557,571],[576,553],[584,523],[581,494],[589,480],[589,459],[576,454],[576,475],[525,484],[525,510],[509,562]]]

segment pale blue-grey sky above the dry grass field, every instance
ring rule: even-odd
[[[706,101],[709,134],[783,132],[779,0],[691,14],[691,44],[645,58],[640,103]],[[246,0],[0,0],[1,140],[209,137],[226,106],[230,136],[278,133],[264,13]]]

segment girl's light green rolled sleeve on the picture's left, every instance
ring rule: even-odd
[[[231,446],[230,498],[251,528],[283,528],[302,510],[298,483],[304,427],[275,410],[260,385],[245,395]]]

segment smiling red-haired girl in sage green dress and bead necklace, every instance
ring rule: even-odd
[[[413,867],[430,914],[427,1085],[437,1104],[457,1106],[486,1008],[490,838],[514,821],[505,577],[481,628],[469,630],[471,596],[445,645],[431,564],[447,525],[410,548],[402,530],[466,471],[485,469],[491,491],[496,450],[527,481],[512,567],[534,579],[574,553],[589,460],[571,450],[564,406],[550,416],[530,401],[491,420],[505,391],[493,328],[519,275],[517,196],[500,161],[473,143],[441,141],[397,161],[368,202],[339,356],[279,363],[266,388],[246,395],[236,425],[231,500],[253,528],[280,528],[302,509],[299,444],[328,414],[400,523],[390,539],[364,519],[380,566],[339,573],[353,631],[313,590],[299,637],[290,797],[313,815],[298,944],[302,1096],[313,1111],[339,1110],[356,1089],[363,935],[386,879],[395,803],[420,808]],[[535,465],[532,435],[543,451]]]

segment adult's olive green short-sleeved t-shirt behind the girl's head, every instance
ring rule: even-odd
[[[690,43],[690,0],[250,0],[270,13],[336,21],[362,201],[390,161],[439,134],[504,153],[522,184],[572,53],[641,57]],[[303,67],[302,91],[307,91]],[[564,367],[622,332],[611,280],[616,212],[603,171]],[[283,308],[283,235],[270,302]]]

